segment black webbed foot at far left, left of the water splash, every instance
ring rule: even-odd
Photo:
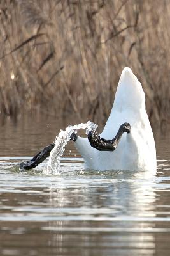
[[[50,152],[54,148],[54,143],[46,146],[43,150],[41,150],[36,156],[34,156],[30,161],[20,163],[20,169],[29,170],[38,166],[38,164],[42,163],[46,157],[50,156]]]

